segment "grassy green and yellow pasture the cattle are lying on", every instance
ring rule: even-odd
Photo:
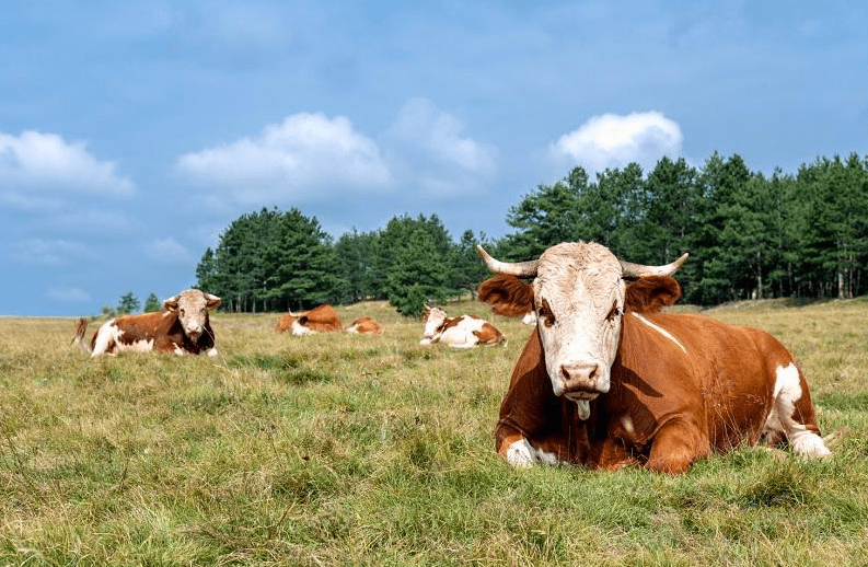
[[[72,320],[0,319],[0,565],[868,565],[864,299],[708,311],[780,338],[837,437],[826,460],[743,448],[680,476],[495,454],[520,321],[459,350],[383,303],[338,314],[385,333],[217,313],[215,359],[91,360]]]

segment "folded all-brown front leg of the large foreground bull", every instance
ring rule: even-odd
[[[696,424],[676,418],[657,430],[646,466],[658,473],[678,474],[690,468],[695,460],[709,454],[708,436]]]

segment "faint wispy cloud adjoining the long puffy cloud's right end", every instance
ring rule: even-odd
[[[432,196],[478,190],[497,169],[497,150],[464,136],[464,128],[427,99],[405,104],[384,135],[402,181]]]

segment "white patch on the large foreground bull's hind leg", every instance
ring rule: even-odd
[[[809,431],[805,425],[792,418],[796,402],[801,398],[799,369],[790,362],[786,367],[777,367],[775,380],[775,397],[772,412],[765,421],[765,429],[779,426],[787,435],[792,451],[806,456],[826,456],[830,454],[823,438]]]

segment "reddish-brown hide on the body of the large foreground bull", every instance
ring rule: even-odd
[[[625,305],[634,311],[624,315],[611,387],[590,403],[587,420],[579,419],[574,402],[554,395],[539,329],[531,334],[500,405],[500,454],[523,437],[569,463],[610,470],[639,463],[678,473],[711,451],[761,440],[775,371],[792,362],[789,351],[762,331],[653,313],[680,290],[671,278],[643,279],[627,287]],[[645,321],[635,315],[638,309],[647,310]],[[800,371],[799,383],[794,417],[819,435]]]

